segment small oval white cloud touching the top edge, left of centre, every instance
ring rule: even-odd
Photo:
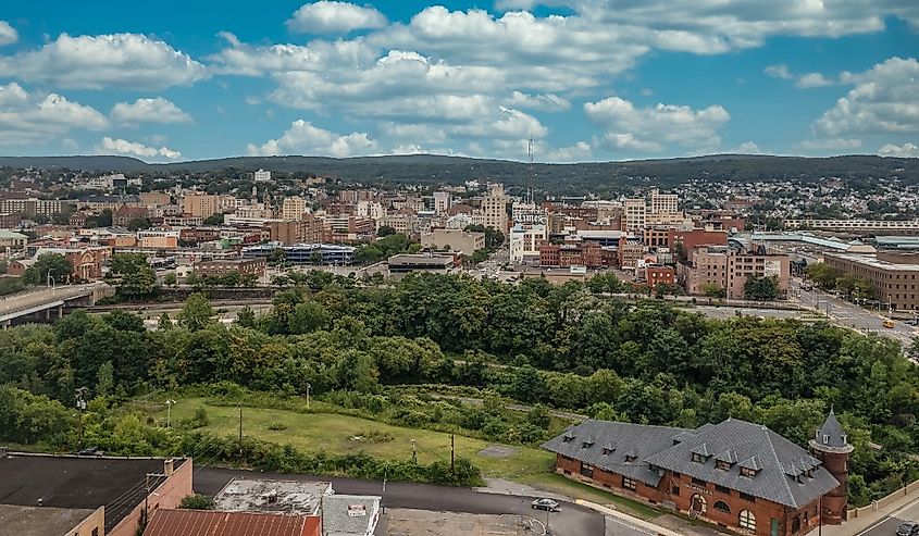
[[[305,34],[347,34],[356,29],[382,28],[387,21],[372,7],[320,0],[294,13],[287,26]]]

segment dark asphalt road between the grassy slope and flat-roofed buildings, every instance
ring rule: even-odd
[[[530,506],[534,497],[482,494],[470,488],[405,482],[388,482],[386,483],[386,491],[383,493],[382,483],[374,481],[198,468],[195,470],[194,477],[195,491],[213,496],[233,477],[332,482],[333,488],[339,494],[382,496],[383,507],[385,508],[414,508],[493,515],[508,513],[533,516],[544,523],[546,521],[545,512],[535,512]],[[562,511],[550,514],[549,525],[552,534],[560,536],[601,536],[605,534],[603,514],[570,502],[562,502]],[[621,531],[616,529],[614,534],[623,536],[642,534],[641,532],[629,533],[625,526],[621,528]]]

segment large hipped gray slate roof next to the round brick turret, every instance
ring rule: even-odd
[[[647,461],[792,508],[800,508],[840,485],[820,460],[759,424],[729,419],[683,437],[681,444],[650,456]],[[693,462],[692,453],[700,450],[701,445],[712,456],[705,463]],[[716,469],[716,458],[726,457],[729,451],[741,461],[726,471]],[[742,466],[760,469],[756,476],[748,477],[741,475]]]

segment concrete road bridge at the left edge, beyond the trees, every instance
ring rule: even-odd
[[[65,308],[89,307],[114,289],[98,282],[87,285],[66,285],[42,288],[34,292],[16,294],[0,299],[0,326],[4,329],[16,321],[51,321],[64,315]]]

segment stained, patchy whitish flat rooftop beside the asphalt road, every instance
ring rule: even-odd
[[[214,509],[226,512],[282,512],[315,515],[328,482],[248,481],[234,478],[214,497]]]

